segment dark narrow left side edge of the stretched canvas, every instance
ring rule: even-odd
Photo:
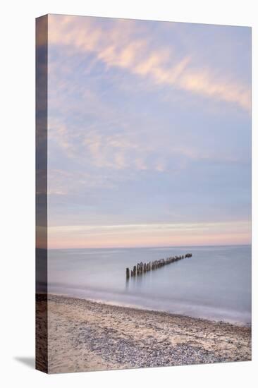
[[[47,372],[47,27],[36,19],[36,369]]]

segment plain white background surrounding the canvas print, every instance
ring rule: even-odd
[[[257,375],[257,1],[36,0],[1,2],[2,387],[254,387]],[[251,25],[253,37],[253,360],[145,370],[44,375],[35,348],[35,18],[45,13]],[[256,113],[256,114],[255,114]],[[256,238],[257,240],[257,238]],[[19,360],[21,358],[23,361]],[[28,359],[28,360],[27,360]],[[27,362],[26,362],[27,360]],[[27,365],[27,364],[30,365]],[[258,380],[258,378],[257,378]],[[256,383],[257,384],[257,383]]]

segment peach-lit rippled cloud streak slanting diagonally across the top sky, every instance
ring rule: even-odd
[[[251,90],[247,85],[231,79],[231,75],[216,74],[204,63],[196,67],[191,52],[183,57],[176,55],[173,39],[167,47],[157,47],[143,28],[137,35],[137,28],[139,22],[134,20],[49,16],[49,44],[69,47],[71,52],[92,52],[108,68],[121,68],[152,83],[172,85],[250,111]]]

